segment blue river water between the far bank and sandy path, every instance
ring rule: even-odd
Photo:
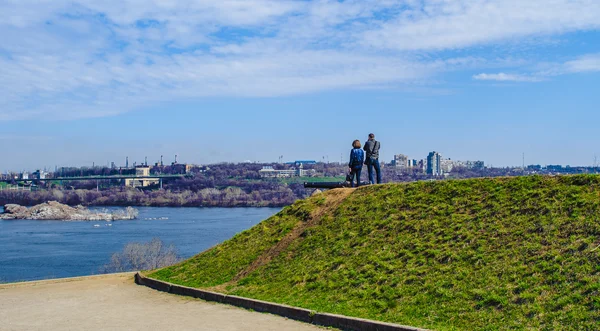
[[[179,255],[188,258],[249,229],[280,209],[138,210],[138,219],[115,222],[0,220],[0,282],[97,274],[109,263],[111,255],[127,243],[152,238],[175,245]]]

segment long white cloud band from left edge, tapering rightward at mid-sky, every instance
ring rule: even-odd
[[[82,64],[59,58],[17,59],[17,66],[0,61],[0,77],[22,77],[27,83],[8,87],[10,104],[26,104],[19,97],[29,90],[41,106],[0,113],[0,119],[53,114],[64,118],[103,116],[147,102],[203,96],[272,97],[327,89],[352,88],[423,79],[438,64],[413,63],[380,56],[335,51],[266,53],[251,57],[215,55],[148,57],[127,65],[123,59]],[[14,62],[14,60],[13,60]],[[7,72],[8,68],[15,68]],[[71,73],[77,73],[73,75]],[[0,78],[1,79],[1,78]],[[79,104],[79,106],[78,106]]]

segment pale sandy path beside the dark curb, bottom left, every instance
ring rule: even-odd
[[[323,330],[158,292],[133,274],[0,285],[0,330]]]

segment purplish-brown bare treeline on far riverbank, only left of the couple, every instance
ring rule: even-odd
[[[279,207],[310,193],[300,182],[260,179],[258,170],[261,167],[256,164],[213,165],[209,171],[196,172],[189,177],[165,179],[163,190],[123,187],[117,180],[100,181],[99,191],[95,180],[64,182],[65,186],[57,181],[46,181],[40,182],[42,186],[37,190],[0,191],[0,204],[34,205],[54,200],[87,206]],[[165,167],[162,173],[172,173],[170,170],[172,168]],[[79,171],[79,175],[81,173]],[[67,175],[77,175],[77,171],[69,170]]]

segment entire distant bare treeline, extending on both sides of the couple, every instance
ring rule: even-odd
[[[86,206],[219,206],[219,207],[278,207],[307,197],[312,191],[303,187],[303,180],[323,180],[323,178],[261,179],[258,171],[265,164],[214,164],[199,167],[188,177],[165,179],[163,190],[158,186],[143,189],[123,187],[118,180],[69,181],[62,186],[58,181],[37,183],[37,190],[0,191],[0,204],[17,203],[35,205],[46,201],[58,201],[69,205]],[[290,168],[290,165],[269,164],[275,169]],[[365,167],[366,168],[366,167]],[[320,176],[340,180],[347,171],[345,164],[318,163],[305,166],[315,169]],[[68,168],[63,174],[71,176],[112,175],[119,170],[108,168]],[[121,170],[123,174],[124,170]],[[129,171],[129,170],[127,170]],[[154,167],[154,173],[175,174],[179,167]],[[416,180],[441,179],[423,173],[419,169],[400,170],[392,166],[382,168],[385,182],[410,182]],[[447,178],[472,178],[520,175],[522,172],[511,168],[486,168],[478,171],[455,168]],[[342,177],[340,177],[342,176]],[[334,177],[337,177],[335,179]],[[367,171],[363,169],[363,181]],[[15,183],[16,184],[16,183]],[[99,184],[99,191],[96,191]]]

